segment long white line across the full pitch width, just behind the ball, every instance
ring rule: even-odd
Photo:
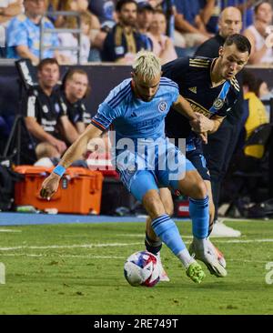
[[[272,243],[273,238],[268,239],[228,239],[217,240],[217,243]],[[185,241],[186,244],[190,243]],[[47,249],[47,248],[91,248],[91,247],[130,247],[132,245],[143,245],[143,243],[107,243],[107,244],[74,244],[74,245],[48,245],[48,246],[21,246],[21,247],[0,247],[0,251],[11,251],[16,249]]]

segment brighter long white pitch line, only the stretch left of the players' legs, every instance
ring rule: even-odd
[[[21,246],[21,247],[0,247],[0,251],[10,251],[15,249],[23,249],[23,248],[30,248],[30,249],[46,249],[46,248],[91,248],[91,247],[128,247],[131,245],[139,245],[142,243],[108,243],[108,244],[74,244],[74,245],[48,245],[48,246]]]

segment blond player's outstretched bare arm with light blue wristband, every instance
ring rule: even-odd
[[[100,136],[101,134],[102,131],[92,124],[86,127],[85,132],[66,150],[66,153],[62,157],[58,166],[56,166],[53,172],[45,178],[40,191],[41,197],[49,199],[56,193],[59,181],[65,173],[66,167],[70,166],[72,162],[83,156],[87,150],[87,144],[90,139]]]

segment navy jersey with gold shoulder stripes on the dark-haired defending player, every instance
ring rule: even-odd
[[[187,99],[193,110],[208,118],[227,116],[239,94],[236,78],[212,87],[210,73],[214,64],[215,59],[195,56],[179,58],[162,67],[163,76],[177,83],[180,95]],[[166,133],[168,137],[186,137],[187,151],[200,143],[187,118],[173,109],[166,118]]]

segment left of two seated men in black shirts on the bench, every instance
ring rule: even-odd
[[[78,134],[66,116],[56,84],[60,71],[55,58],[45,58],[38,65],[38,84],[25,95],[23,112],[25,125],[36,143],[36,151],[48,157],[59,157],[66,150],[66,142],[73,143]],[[61,135],[64,134],[64,136]]]

